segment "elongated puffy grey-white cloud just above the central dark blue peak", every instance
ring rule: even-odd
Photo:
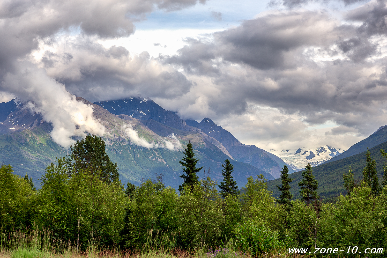
[[[122,46],[104,48],[89,36],[58,37],[51,46],[33,53],[33,62],[67,91],[89,101],[145,95],[174,98],[189,91],[192,82],[170,65],[147,52],[130,55]]]

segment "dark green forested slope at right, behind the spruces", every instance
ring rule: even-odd
[[[380,154],[380,149],[387,150],[387,142],[379,144],[370,149],[371,156],[375,158],[377,164],[379,184],[382,183],[383,166],[384,162],[386,161],[385,158]],[[332,161],[313,167],[313,174],[315,175],[315,179],[317,179],[319,182],[319,188],[317,191],[319,192],[320,196],[323,198],[328,198],[337,196],[340,193],[346,194],[342,174],[348,172],[349,166],[352,167],[354,178],[360,181],[360,179],[363,178],[362,172],[366,164],[365,154],[366,151],[361,152],[360,154],[346,157],[344,159],[340,159],[338,161]],[[295,180],[293,180],[293,182],[290,184],[290,191],[294,198],[299,198],[300,187],[298,186],[298,183],[302,179],[301,172],[302,171],[299,171],[290,175],[291,178],[295,178]],[[281,179],[279,178],[269,181],[267,185],[269,190],[273,191],[273,196],[278,197],[279,191],[276,185],[281,185]]]

